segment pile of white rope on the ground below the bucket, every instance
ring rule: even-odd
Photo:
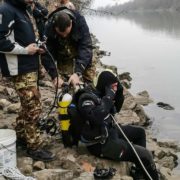
[[[30,176],[24,176],[18,168],[5,167],[2,170],[2,175],[12,180],[36,180]]]

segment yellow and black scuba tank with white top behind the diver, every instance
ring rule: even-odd
[[[60,130],[62,133],[62,140],[65,147],[70,147],[72,143],[72,137],[69,133],[70,127],[70,116],[68,114],[68,107],[71,104],[72,96],[69,93],[65,93],[58,102],[58,114]]]

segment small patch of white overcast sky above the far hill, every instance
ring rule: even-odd
[[[93,7],[102,7],[102,6],[107,6],[107,5],[114,5],[116,3],[122,4],[125,2],[128,2],[130,0],[94,0]]]

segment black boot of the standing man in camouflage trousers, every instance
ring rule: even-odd
[[[29,157],[37,161],[49,162],[55,159],[55,155],[52,152],[49,152],[44,149],[37,149],[37,150],[28,149],[27,154]]]

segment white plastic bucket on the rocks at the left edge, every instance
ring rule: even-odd
[[[16,167],[16,132],[0,129],[0,173],[4,167]]]

